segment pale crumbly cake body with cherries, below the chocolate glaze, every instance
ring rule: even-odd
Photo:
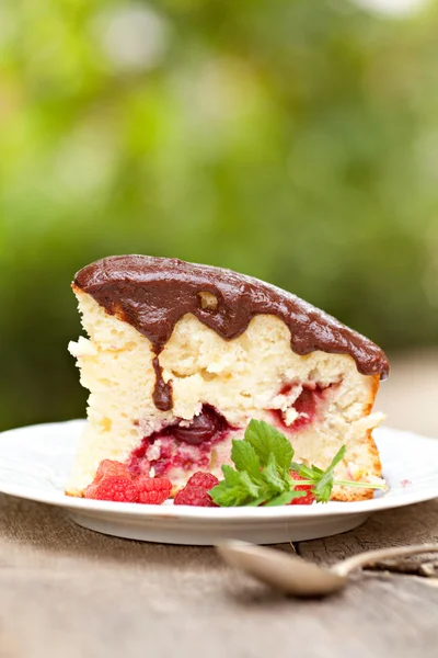
[[[290,327],[273,314],[254,315],[243,332],[227,340],[185,313],[159,354],[162,381],[172,389],[172,408],[161,410],[152,341],[116,308],[108,313],[77,284],[73,291],[89,338],[69,350],[90,397],[67,494],[82,496],[105,458],[169,477],[175,490],[197,470],[220,477],[221,465],[231,463],[232,439],[243,438],[252,418],[284,432],[296,461],[325,468],[345,444],[338,479],[381,476],[371,434],[382,419],[371,412],[380,376],[361,374],[350,354],[297,354]],[[212,308],[212,293],[199,293],[203,306]],[[370,489],[333,490],[335,500],[370,497]]]

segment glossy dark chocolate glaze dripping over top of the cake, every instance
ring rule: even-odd
[[[177,259],[115,256],[81,270],[73,286],[151,341],[157,377],[153,401],[163,411],[172,408],[172,384],[163,381],[158,356],[187,313],[224,340],[243,333],[254,316],[275,315],[289,327],[297,354],[315,350],[349,354],[362,375],[384,379],[389,374],[385,354],[364,336],[291,293],[231,270]],[[203,308],[203,292],[216,296],[215,309]]]

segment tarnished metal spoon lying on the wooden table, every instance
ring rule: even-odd
[[[325,597],[345,587],[348,576],[359,567],[392,557],[438,553],[438,544],[367,551],[343,559],[331,567],[320,567],[298,555],[287,555],[279,551],[253,546],[244,542],[223,542],[217,546],[217,549],[229,565],[286,594]]]

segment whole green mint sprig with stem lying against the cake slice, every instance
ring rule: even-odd
[[[334,470],[345,453],[343,445],[326,470],[297,464],[292,462],[290,441],[281,432],[263,420],[251,420],[244,439],[232,441],[231,460],[235,468],[222,466],[223,480],[210,490],[210,496],[220,507],[274,507],[289,504],[295,498],[306,496],[306,491],[295,489],[297,485],[312,485],[318,502],[327,502],[336,484],[384,488],[384,485],[335,480]],[[291,470],[303,479],[295,480]]]

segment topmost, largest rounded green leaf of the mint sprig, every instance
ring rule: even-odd
[[[255,450],[261,466],[266,466],[269,454],[274,453],[278,473],[289,473],[290,463],[293,458],[293,449],[290,441],[286,439],[276,428],[263,420],[251,420],[245,431],[245,441],[251,443]]]

